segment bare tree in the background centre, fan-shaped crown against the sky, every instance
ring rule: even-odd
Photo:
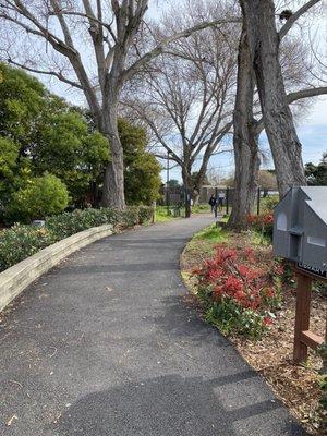
[[[174,21],[179,22],[177,15]],[[136,82],[133,98],[130,93],[125,100],[149,126],[153,152],[161,158],[169,153],[180,166],[194,203],[209,159],[221,152],[221,140],[232,125],[237,34],[238,26],[229,25],[179,40],[152,62],[143,82]]]

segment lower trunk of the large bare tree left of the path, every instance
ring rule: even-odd
[[[123,148],[118,133],[118,102],[114,97],[109,98],[109,104],[104,106],[102,132],[109,140],[111,161],[105,170],[102,187],[102,206],[117,209],[125,208],[124,197],[124,162]]]

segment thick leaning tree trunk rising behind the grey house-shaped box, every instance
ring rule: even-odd
[[[240,0],[278,190],[305,185],[301,143],[284,90],[272,0]]]

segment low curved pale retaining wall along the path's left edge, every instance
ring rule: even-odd
[[[93,227],[56,242],[0,274],[0,312],[34,280],[71,253],[112,234],[112,226]]]

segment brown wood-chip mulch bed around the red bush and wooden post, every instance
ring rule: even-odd
[[[240,246],[240,244],[249,246],[249,233],[231,234],[229,245]],[[182,275],[193,294],[196,293],[196,279],[192,278],[190,272],[211,256],[213,249],[214,245],[208,246],[205,241],[196,241],[196,246],[191,242],[181,256]],[[259,250],[262,251],[263,247],[261,246]],[[267,254],[271,252],[269,245],[264,250]],[[198,307],[198,301],[195,304]],[[326,294],[313,292],[311,330],[323,337],[326,312]],[[295,291],[288,288],[284,289],[282,307],[277,312],[275,324],[261,340],[253,341],[244,337],[229,337],[229,339],[243,358],[265,377],[275,393],[302,422],[307,432],[312,435],[323,435],[322,431],[318,431],[318,421],[323,412],[322,410],[317,412],[320,398],[318,371],[322,367],[322,360],[314,351],[311,351],[305,365],[292,363],[294,316]]]

